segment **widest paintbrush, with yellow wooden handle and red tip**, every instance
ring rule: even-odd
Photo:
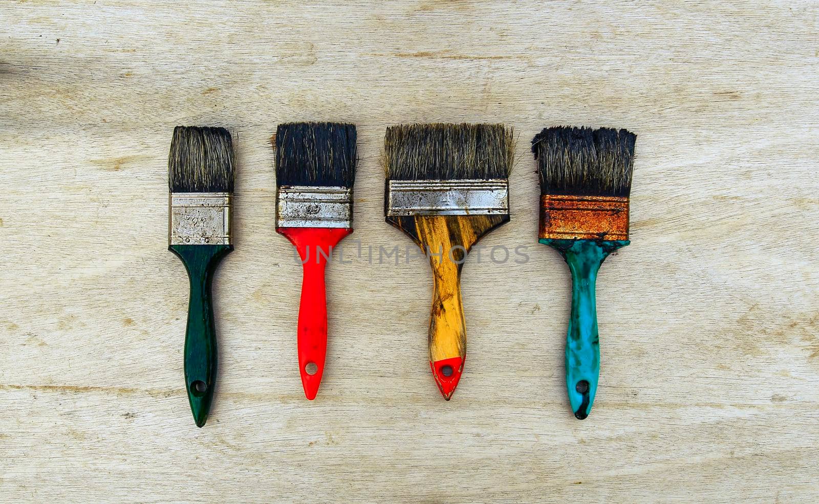
[[[432,266],[429,363],[449,400],[466,358],[461,268],[482,236],[509,221],[512,130],[503,124],[409,124],[387,128],[384,144],[384,214]]]

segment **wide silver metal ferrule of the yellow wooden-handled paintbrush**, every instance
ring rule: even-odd
[[[391,180],[387,216],[509,214],[509,181]]]

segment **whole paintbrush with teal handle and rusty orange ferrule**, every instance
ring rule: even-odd
[[[572,272],[566,385],[572,412],[589,416],[600,375],[595,281],[600,264],[628,245],[628,196],[636,135],[612,128],[545,128],[532,139],[541,176],[540,242]]]

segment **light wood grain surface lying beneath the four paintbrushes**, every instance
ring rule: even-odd
[[[817,2],[0,6],[0,502],[819,501]],[[274,232],[276,124],[358,124],[355,233],[329,268],[319,397],[301,268]],[[384,128],[511,124],[511,223],[464,268],[468,360],[430,376],[428,265],[382,215]],[[176,124],[231,128],[204,429],[167,249]],[[536,243],[541,128],[637,133],[632,244],[598,283],[603,358],[569,411],[568,269]],[[474,259],[474,258],[473,258]]]

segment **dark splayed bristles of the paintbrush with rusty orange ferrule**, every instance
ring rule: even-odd
[[[544,128],[532,138],[541,193],[628,197],[636,135],[613,128]]]

